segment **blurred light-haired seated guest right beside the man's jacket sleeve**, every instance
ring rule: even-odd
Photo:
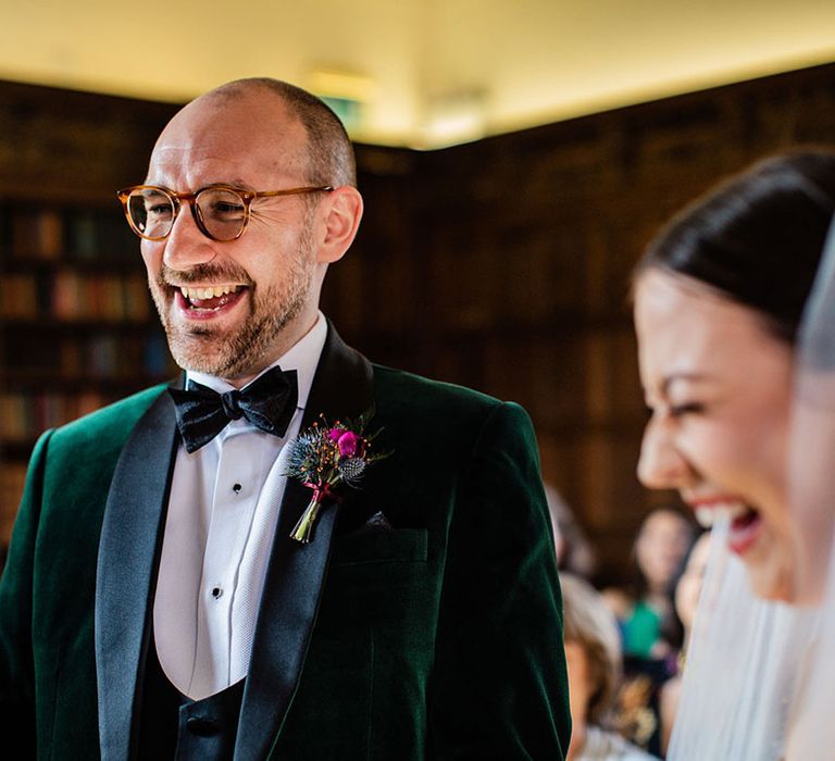
[[[569,761],[657,758],[607,728],[622,674],[620,634],[612,612],[578,576],[561,573],[560,581],[571,698]]]

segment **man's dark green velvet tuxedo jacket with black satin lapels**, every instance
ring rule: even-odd
[[[287,485],[235,759],[563,758],[562,608],[529,419],[371,365],[329,326],[302,425],[371,406],[392,453],[309,545],[289,534],[310,491]],[[178,446],[165,386],[38,441],[0,583],[7,746],[135,752]],[[381,511],[390,527],[366,524]]]

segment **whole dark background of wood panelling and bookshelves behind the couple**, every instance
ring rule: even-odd
[[[176,108],[0,83],[3,537],[45,425],[171,372],[114,191],[145,177]],[[614,581],[641,515],[670,499],[635,478],[631,269],[682,204],[801,144],[835,144],[835,64],[444,150],[357,146],[365,217],[323,309],[377,362],[522,403],[598,581]],[[59,282],[75,288],[68,308]],[[33,308],[12,305],[27,289]]]

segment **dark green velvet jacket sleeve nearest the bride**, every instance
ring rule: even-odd
[[[494,408],[449,526],[431,693],[438,759],[554,761],[571,732],[562,599],[533,425]]]

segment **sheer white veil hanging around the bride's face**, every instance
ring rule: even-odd
[[[788,509],[800,527],[788,606],[757,598],[713,527],[687,653],[672,761],[835,759],[835,224],[796,350]]]

